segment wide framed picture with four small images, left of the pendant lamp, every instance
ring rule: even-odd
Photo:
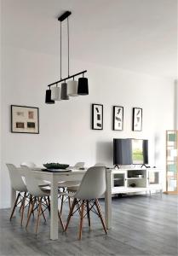
[[[11,132],[39,133],[39,109],[11,105]]]

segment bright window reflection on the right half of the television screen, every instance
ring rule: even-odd
[[[148,140],[132,139],[132,161],[134,165],[148,164]]]

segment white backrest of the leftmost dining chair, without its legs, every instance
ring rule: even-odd
[[[13,189],[20,192],[26,192],[26,184],[23,182],[18,168],[12,164],[6,164],[6,166],[9,170],[10,183]]]

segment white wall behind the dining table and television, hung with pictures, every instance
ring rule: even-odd
[[[58,79],[58,58],[25,49],[3,47],[2,180],[0,207],[9,207],[9,175],[5,163],[31,160],[112,166],[113,137],[149,139],[151,166],[165,165],[165,131],[174,125],[174,83],[110,67],[72,62],[73,73],[88,69],[89,96],[55,105],[44,104],[47,84]],[[104,130],[92,131],[91,104],[104,105]],[[40,134],[10,132],[10,105],[39,108]],[[112,106],[124,108],[123,131],[112,131]],[[143,108],[143,131],[131,131],[132,108]],[[164,177],[164,172],[163,172]]]

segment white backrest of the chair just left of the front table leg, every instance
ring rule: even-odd
[[[43,194],[42,189],[38,186],[38,180],[35,177],[34,173],[32,172],[32,169],[27,166],[21,166],[21,169],[23,171],[23,176],[26,180],[26,187],[31,195],[40,196]]]

